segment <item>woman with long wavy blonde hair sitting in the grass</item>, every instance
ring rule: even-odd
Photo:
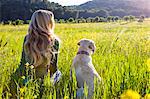
[[[52,12],[37,10],[33,13],[28,34],[25,36],[23,43],[21,64],[12,76],[13,82],[18,81],[20,77],[24,77],[19,85],[25,85],[31,76],[33,77],[30,69],[27,72],[29,66],[32,66],[35,70],[34,79],[41,78],[43,81],[44,76],[50,74],[50,77],[52,77],[55,74],[54,83],[59,80],[61,75],[57,68],[59,40],[54,34],[54,27]],[[27,64],[29,66],[26,66]],[[11,81],[10,90],[14,94],[17,88],[12,84]]]

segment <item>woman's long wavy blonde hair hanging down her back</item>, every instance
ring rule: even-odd
[[[54,15],[47,10],[37,10],[31,17],[28,35],[24,43],[27,61],[35,67],[50,64],[54,42]]]

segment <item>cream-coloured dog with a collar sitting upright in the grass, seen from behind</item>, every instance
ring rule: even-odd
[[[87,99],[92,99],[94,94],[94,76],[101,82],[101,77],[97,73],[92,63],[91,55],[94,54],[96,46],[94,41],[82,39],[78,42],[79,49],[70,68],[70,77],[72,79],[72,69],[75,69],[77,80],[77,99],[84,98],[84,83],[88,87]]]

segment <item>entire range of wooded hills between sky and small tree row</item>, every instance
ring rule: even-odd
[[[48,0],[2,0],[0,22],[30,20],[32,13],[38,9],[52,11],[58,20],[126,15],[150,17],[149,6],[150,0],[93,0],[79,6],[62,6]]]

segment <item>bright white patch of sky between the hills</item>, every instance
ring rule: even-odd
[[[82,3],[85,3],[87,1],[92,1],[92,0],[49,0],[49,1],[59,3],[63,6],[69,6],[69,5],[80,5]]]

